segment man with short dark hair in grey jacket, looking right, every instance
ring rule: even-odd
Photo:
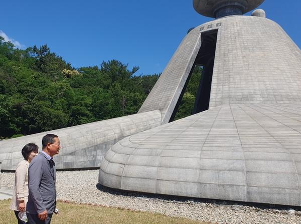
[[[51,221],[56,208],[56,170],[53,156],[61,145],[57,135],[47,134],[42,139],[43,150],[32,160],[28,170],[29,196],[26,213],[29,224]]]

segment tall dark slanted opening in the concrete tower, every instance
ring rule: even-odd
[[[196,57],[194,65],[190,71],[188,79],[185,83],[185,86],[181,92],[175,110],[170,119],[174,121],[176,119],[183,118],[188,116],[187,113],[196,114],[209,109],[210,102],[210,92],[211,92],[211,83],[212,83],[212,75],[213,75],[213,66],[214,66],[214,58],[215,58],[215,50],[216,50],[216,40],[217,40],[217,32],[218,30],[208,31],[202,33],[202,45],[199,50],[199,53]],[[201,68],[201,69],[200,69]],[[194,103],[190,103],[191,105],[183,105],[183,96],[187,94],[187,86],[191,81],[195,82],[195,79],[191,79],[192,75],[197,71],[201,72],[201,76],[199,79],[199,86],[197,93],[192,93],[195,96]],[[179,108],[180,107],[180,108]],[[185,107],[184,110],[190,110],[191,112],[182,112],[182,107]],[[181,115],[177,115],[181,111]]]

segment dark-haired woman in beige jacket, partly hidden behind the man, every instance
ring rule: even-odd
[[[39,147],[34,143],[28,143],[22,149],[22,160],[16,168],[15,193],[13,194],[11,209],[15,210],[18,223],[26,223],[19,218],[19,213],[25,211],[28,200],[28,166],[32,159],[38,154]]]

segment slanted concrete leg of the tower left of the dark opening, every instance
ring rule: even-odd
[[[138,113],[160,110],[162,124],[170,121],[200,47],[201,35],[194,29],[184,38]]]

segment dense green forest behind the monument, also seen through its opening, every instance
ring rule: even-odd
[[[47,45],[20,50],[0,37],[0,139],[136,113],[160,76],[138,69],[117,60],[75,69]],[[177,119],[191,114],[200,70]]]

